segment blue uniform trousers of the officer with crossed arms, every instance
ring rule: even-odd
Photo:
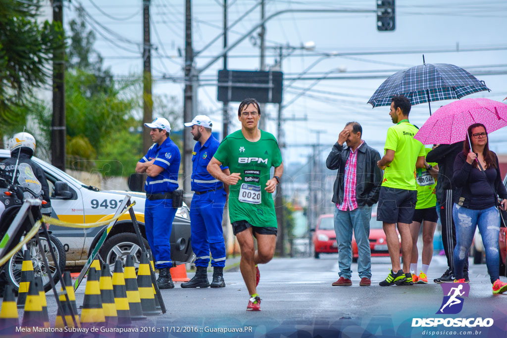
[[[176,210],[172,207],[172,199],[146,199],[144,204],[144,228],[157,269],[172,268],[169,238]]]

